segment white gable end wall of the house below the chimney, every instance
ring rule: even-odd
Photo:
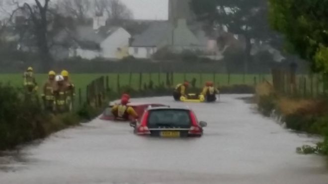
[[[103,58],[116,58],[117,48],[124,48],[129,45],[131,35],[123,28],[117,29],[101,44]]]

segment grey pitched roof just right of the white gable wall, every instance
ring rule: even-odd
[[[154,22],[146,31],[134,37],[132,47],[155,47],[172,30],[169,22]]]

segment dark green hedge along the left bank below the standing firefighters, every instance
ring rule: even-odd
[[[22,91],[0,83],[0,150],[79,123],[74,114],[54,116],[42,111],[38,101],[24,100]]]

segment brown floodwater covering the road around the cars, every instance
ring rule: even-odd
[[[140,137],[127,123],[94,120],[25,147],[20,159],[1,158],[9,163],[0,166],[0,184],[328,184],[325,158],[295,152],[315,138],[256,114],[240,97],[132,100],[188,105],[208,123],[204,136]]]

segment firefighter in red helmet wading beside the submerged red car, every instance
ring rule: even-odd
[[[138,118],[138,114],[130,106],[127,106],[129,100],[127,98],[121,99],[120,105],[114,105],[112,108],[112,114],[117,120],[129,120],[129,116],[132,116],[134,119]]]

